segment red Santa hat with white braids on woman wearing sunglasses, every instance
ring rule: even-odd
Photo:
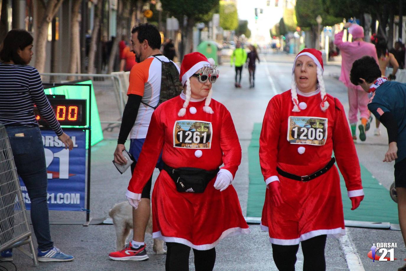
[[[180,66],[180,74],[179,79],[182,82],[182,86],[186,85],[186,100],[183,104],[183,108],[178,113],[179,117],[183,117],[186,114],[186,108],[189,105],[190,95],[192,94],[190,91],[190,80],[189,78],[199,72],[200,69],[205,67],[212,67],[214,68],[214,59],[210,58],[207,59],[203,54],[199,52],[192,52],[190,54],[185,54],[182,64]],[[203,111],[209,114],[213,114],[213,109],[209,106],[212,100],[212,89],[209,91],[209,95],[207,95],[205,106],[203,106]]]

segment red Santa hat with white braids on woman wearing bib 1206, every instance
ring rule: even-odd
[[[293,101],[293,109],[292,111],[294,112],[300,112],[300,109],[305,109],[306,105],[299,104],[298,100],[298,94],[296,92],[296,81],[295,81],[295,67],[296,67],[296,60],[298,59],[299,56],[310,56],[311,59],[313,59],[314,63],[317,66],[317,81],[319,84],[320,88],[320,95],[322,98],[322,102],[320,104],[320,108],[322,111],[326,111],[329,104],[327,102],[327,94],[326,94],[326,87],[324,86],[324,81],[323,81],[323,72],[324,72],[324,67],[323,67],[323,59],[322,59],[322,52],[319,50],[309,48],[309,49],[303,49],[295,58],[295,61],[293,63],[293,68],[292,68],[292,88],[290,92],[292,93],[292,101]]]

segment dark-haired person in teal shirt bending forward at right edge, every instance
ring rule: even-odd
[[[406,84],[382,77],[378,64],[370,56],[354,62],[350,78],[354,85],[372,93],[368,108],[387,128],[389,148],[383,162],[395,161],[399,223],[406,243]],[[398,270],[406,271],[406,264]]]

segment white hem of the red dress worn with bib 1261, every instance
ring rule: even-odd
[[[251,230],[249,228],[248,229],[243,229],[240,227],[229,228],[228,230],[225,230],[221,234],[220,238],[218,238],[214,243],[205,244],[205,245],[194,245],[192,242],[190,242],[189,240],[184,239],[184,238],[162,236],[161,231],[153,232],[152,238],[158,238],[165,242],[184,244],[184,245],[187,245],[188,247],[191,247],[191,248],[194,248],[197,250],[209,250],[209,249],[212,249],[213,247],[215,247],[220,242],[221,239],[224,239],[229,236],[238,235],[238,234],[248,234],[250,232],[251,232]]]

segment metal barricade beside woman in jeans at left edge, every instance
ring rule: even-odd
[[[29,244],[31,254],[21,245]],[[9,137],[0,124],[0,251],[17,247],[38,265]]]

